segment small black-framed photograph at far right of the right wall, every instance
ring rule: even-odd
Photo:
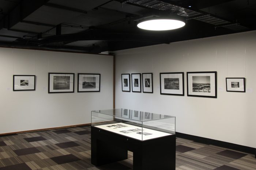
[[[226,78],[227,92],[245,92],[245,78]]]

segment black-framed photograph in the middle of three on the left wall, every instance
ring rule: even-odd
[[[49,73],[48,93],[74,93],[74,73]]]

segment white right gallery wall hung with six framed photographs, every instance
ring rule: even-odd
[[[116,108],[176,116],[176,131],[256,147],[256,31],[115,51]],[[217,71],[217,98],[188,97],[186,72]],[[159,73],[184,72],[185,96],[160,94]],[[122,92],[121,74],[153,73],[154,93]],[[246,93],[226,92],[245,77]]]

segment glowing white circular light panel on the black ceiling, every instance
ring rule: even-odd
[[[137,26],[144,30],[164,31],[181,28],[185,26],[185,23],[173,19],[154,19],[141,22]]]

